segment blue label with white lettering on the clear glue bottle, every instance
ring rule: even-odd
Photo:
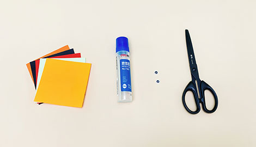
[[[130,60],[120,59],[121,91],[132,91]]]

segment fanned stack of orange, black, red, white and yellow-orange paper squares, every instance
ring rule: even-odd
[[[90,63],[68,45],[27,64],[34,82],[34,101],[54,105],[82,107]]]

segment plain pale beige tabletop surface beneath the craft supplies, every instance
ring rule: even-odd
[[[256,146],[255,5],[1,1],[0,146]],[[200,78],[218,95],[213,114],[182,106],[191,80],[186,28]],[[115,89],[115,38],[123,35],[132,103],[117,103]],[[26,63],[66,44],[92,63],[83,108],[35,105]]]

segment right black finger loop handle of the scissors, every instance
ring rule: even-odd
[[[202,98],[200,99],[200,102],[202,103],[204,112],[206,112],[206,113],[213,113],[213,112],[215,112],[217,107],[218,107],[218,97],[217,97],[217,94],[215,93],[214,89],[212,89],[210,87],[210,85],[208,85],[204,81],[201,82],[200,87],[201,87],[201,91],[202,91]],[[211,94],[214,96],[215,105],[214,105],[214,108],[212,108],[211,110],[209,110],[206,107],[206,104],[205,104],[205,95],[204,95],[204,91],[205,90],[209,90],[211,92]]]

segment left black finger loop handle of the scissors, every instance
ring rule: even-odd
[[[187,107],[187,104],[186,104],[186,101],[185,101],[185,96],[186,96],[187,91],[192,91],[192,93],[194,95],[194,101],[196,102],[196,106],[197,106],[196,111],[191,111],[191,109]],[[200,104],[199,104],[199,99],[198,99],[198,94],[197,94],[197,88],[196,88],[196,85],[194,85],[193,82],[188,83],[187,87],[183,91],[182,103],[183,103],[185,109],[187,110],[187,112],[189,112],[191,114],[197,114],[200,111]]]

